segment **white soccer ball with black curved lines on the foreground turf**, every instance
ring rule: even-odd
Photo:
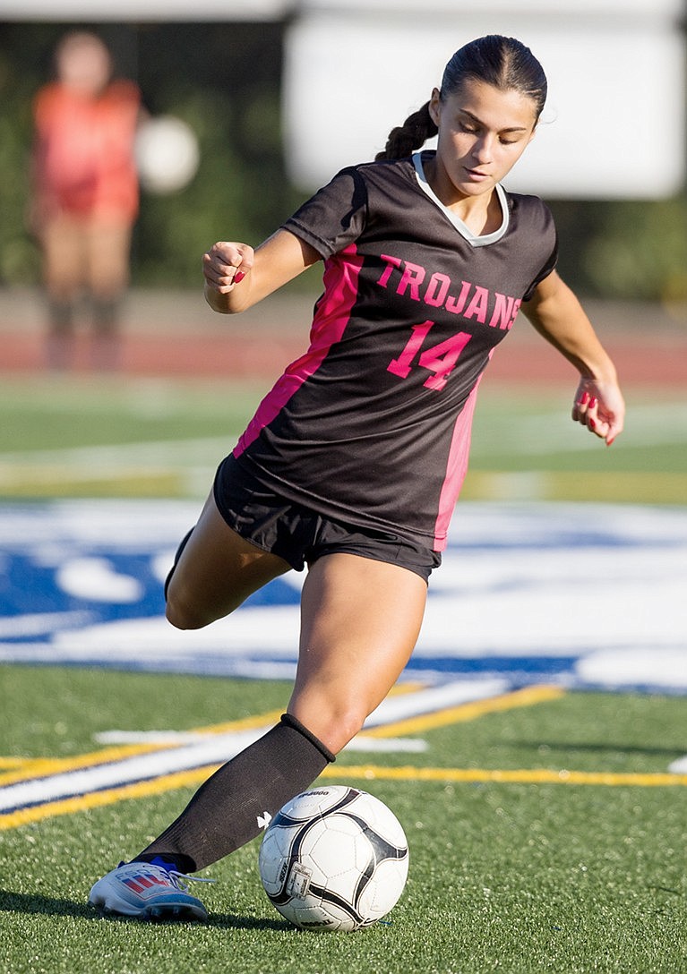
[[[304,930],[357,930],[384,917],[408,875],[396,815],[345,785],[296,795],[260,845],[260,879],[282,916]]]

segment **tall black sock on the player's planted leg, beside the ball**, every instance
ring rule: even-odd
[[[300,721],[282,721],[222,765],[169,829],[135,857],[172,862],[180,872],[210,866],[260,834],[265,819],[304,791],[334,755]]]

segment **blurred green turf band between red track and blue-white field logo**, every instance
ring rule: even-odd
[[[263,385],[5,377],[0,498],[204,497]],[[607,449],[569,420],[574,390],[480,393],[463,496],[687,503],[687,401],[629,396]]]

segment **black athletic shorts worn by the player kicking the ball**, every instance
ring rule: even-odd
[[[441,564],[439,551],[420,543],[376,528],[332,520],[292,504],[251,478],[232,454],[217,468],[214,502],[237,534],[284,558],[297,572],[338,551],[400,565],[425,581]]]

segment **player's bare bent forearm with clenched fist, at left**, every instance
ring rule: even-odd
[[[221,241],[203,255],[206,300],[213,311],[235,315],[320,259],[317,250],[287,230],[278,230],[255,250]]]

